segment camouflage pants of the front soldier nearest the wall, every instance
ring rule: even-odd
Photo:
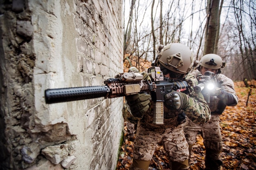
[[[148,128],[138,125],[134,141],[134,159],[149,161],[153,157],[157,144],[162,140],[170,162],[182,162],[189,159],[189,146],[182,126],[171,128]]]

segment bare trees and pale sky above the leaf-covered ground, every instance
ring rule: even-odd
[[[160,44],[178,42],[197,60],[220,55],[234,81],[256,78],[255,0],[124,0],[123,11],[124,69],[144,71]]]

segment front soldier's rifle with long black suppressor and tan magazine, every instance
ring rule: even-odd
[[[148,68],[151,80],[144,80],[140,73],[120,73],[106,79],[105,86],[57,88],[45,90],[45,102],[53,104],[98,97],[115,98],[137,93],[149,93],[153,101],[153,123],[164,124],[164,95],[171,91],[185,91],[186,81],[165,78],[159,67]]]

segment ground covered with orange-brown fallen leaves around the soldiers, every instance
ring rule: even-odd
[[[256,85],[256,82],[253,83]],[[256,170],[256,88],[245,87],[243,82],[235,82],[238,96],[237,106],[227,106],[220,115],[223,149],[221,170]],[[128,170],[132,163],[132,148],[135,134],[133,125],[124,124],[124,143],[119,152],[117,170]],[[190,169],[203,170],[205,149],[200,134],[193,146]],[[151,160],[149,170],[168,170],[168,156],[159,144]]]

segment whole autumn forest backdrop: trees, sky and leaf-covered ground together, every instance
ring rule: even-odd
[[[159,44],[182,43],[194,58],[215,53],[226,63],[222,73],[235,82],[239,103],[227,107],[220,127],[224,148],[222,170],[256,169],[256,1],[254,0],[124,0],[124,71],[145,71],[157,56]],[[125,122],[125,140],[118,170],[128,170],[134,140]],[[204,168],[203,139],[193,146],[191,169]],[[168,169],[161,144],[149,169]]]

